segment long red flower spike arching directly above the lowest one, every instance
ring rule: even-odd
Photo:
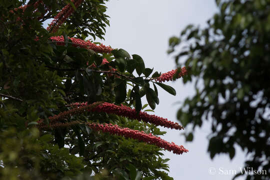
[[[75,103],[72,103],[71,105],[83,107],[83,106],[87,105],[87,102],[82,102],[82,103],[75,102]],[[137,119],[137,120],[142,120],[144,122],[153,123],[155,125],[161,125],[163,127],[168,127],[171,129],[172,128],[183,129],[183,127],[181,125],[179,125],[177,122],[172,122],[170,120],[167,120],[167,118],[159,117],[156,115],[150,115],[150,114],[147,114],[146,112],[140,111],[137,114],[135,109],[124,106],[122,104],[121,104],[121,106],[118,106],[118,105],[115,105],[112,103],[104,102],[104,103],[101,103],[101,104],[89,109],[89,111],[113,113],[116,115],[131,118],[131,119]]]

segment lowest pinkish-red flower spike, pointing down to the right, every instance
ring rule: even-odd
[[[127,127],[121,128],[120,126],[114,124],[97,124],[97,123],[88,123],[89,127],[95,130],[102,132],[108,132],[110,134],[121,135],[124,137],[129,137],[132,139],[137,139],[148,144],[154,144],[158,147],[164,148],[168,151],[172,151],[176,154],[182,154],[183,152],[188,152],[182,145],[176,145],[173,142],[167,142],[160,137],[152,135],[151,133],[147,134],[143,131],[129,129]]]

